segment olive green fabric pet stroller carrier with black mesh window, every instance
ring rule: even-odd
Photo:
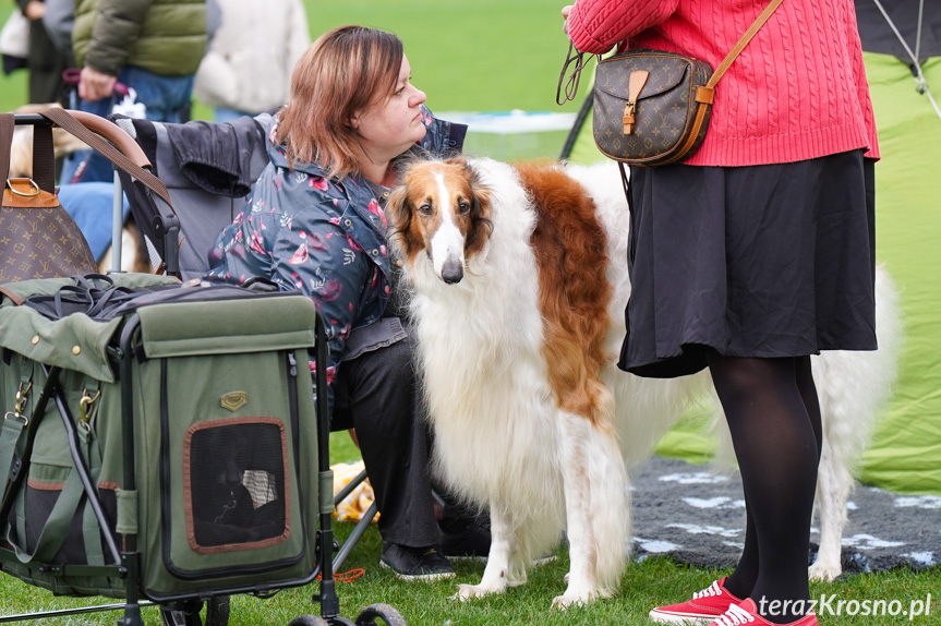
[[[112,278],[131,287],[167,280]],[[32,282],[5,287],[20,297],[51,293],[68,279]],[[26,437],[12,433],[17,424],[34,422],[36,433],[27,478],[0,520],[4,571],[60,594],[126,592],[126,579],[108,567],[116,563],[107,533],[76,478],[63,419],[53,401],[34,414],[46,382],[40,364],[61,369],[76,449],[118,545],[121,535],[136,537],[144,595],[269,590],[314,570],[317,435],[307,365],[314,304],[232,288],[221,296],[216,288],[179,293],[184,298],[111,322],[83,314],[52,321],[9,298],[0,304],[0,401],[20,418],[4,420],[0,461],[4,445],[14,459],[23,452]],[[118,350],[125,362],[118,362]],[[135,489],[125,489],[126,410]]]

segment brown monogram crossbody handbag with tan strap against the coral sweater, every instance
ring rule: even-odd
[[[636,166],[664,166],[691,156],[705,139],[715,85],[783,0],[772,0],[746,31],[715,72],[705,61],[676,52],[632,48],[599,59],[595,70],[592,133],[608,158]],[[574,97],[582,53],[574,61],[566,98]],[[572,88],[572,85],[575,87]],[[562,97],[556,96],[562,104]],[[623,167],[622,167],[623,171]]]

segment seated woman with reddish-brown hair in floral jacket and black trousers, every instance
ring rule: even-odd
[[[436,550],[426,426],[383,205],[399,157],[459,149],[466,128],[434,119],[410,77],[390,33],[343,26],[314,41],[268,135],[272,162],[216,240],[207,278],[264,277],[314,300],[329,339],[331,429],[355,428],[381,513],[381,563],[434,579],[454,570]]]

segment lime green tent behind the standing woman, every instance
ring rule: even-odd
[[[860,479],[901,493],[941,494],[941,111],[931,93],[941,97],[941,7],[885,4],[856,0],[856,12],[882,152],[877,258],[900,291],[905,347]],[[575,162],[604,158],[591,136],[590,99],[564,148]],[[658,453],[708,459],[714,449],[708,421],[704,410],[688,414]]]

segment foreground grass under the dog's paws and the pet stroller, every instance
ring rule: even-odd
[[[346,433],[330,436],[331,461],[353,461],[359,458],[355,446]],[[335,525],[337,534],[345,538],[351,525]],[[931,529],[934,531],[937,529]],[[663,558],[648,558],[630,563],[618,593],[591,606],[571,607],[559,612],[550,610],[552,599],[565,590],[563,577],[568,568],[568,555],[559,549],[558,558],[534,568],[529,582],[510,589],[504,595],[458,602],[451,597],[459,582],[476,583],[483,573],[483,564],[475,562],[455,563],[457,577],[435,583],[403,582],[378,566],[382,551],[379,534],[373,527],[350,554],[341,567],[341,574],[362,569],[363,574],[349,582],[338,582],[341,615],[351,619],[363,607],[384,602],[402,613],[412,626],[529,626],[529,625],[608,625],[649,624],[647,613],[652,606],[666,604],[688,597],[692,591],[707,587],[712,580],[727,574],[688,567]],[[319,605],[311,597],[318,592],[316,583],[299,589],[286,589],[274,598],[258,599],[237,595],[232,599],[232,626],[287,626],[302,613],[319,614]],[[930,594],[930,606],[928,598]],[[880,574],[848,577],[833,583],[815,583],[811,598],[830,598],[828,606],[832,613],[820,612],[821,624],[827,626],[870,626],[873,624],[939,624],[941,614],[941,568],[921,573],[893,570]],[[843,609],[835,614],[843,601]],[[856,601],[858,604],[854,604]],[[885,601],[885,614],[849,615],[874,602]],[[897,601],[894,605],[890,604]],[[20,582],[10,576],[0,576],[0,615],[13,615],[35,611],[71,609],[80,605],[113,603],[104,598],[56,598],[50,592]],[[920,604],[919,604],[920,603]],[[921,615],[909,621],[906,613],[912,607],[921,607]],[[925,612],[930,607],[930,612]],[[147,626],[158,626],[160,618],[155,607],[143,610]],[[50,625],[113,625],[120,613],[93,613],[56,619],[35,622]]]

